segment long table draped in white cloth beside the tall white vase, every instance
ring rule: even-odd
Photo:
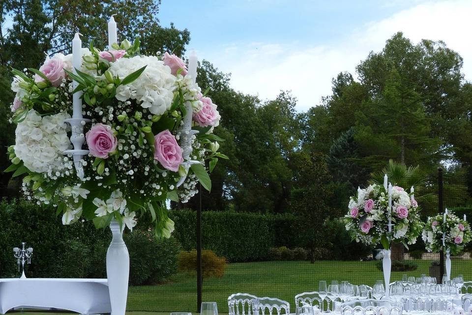
[[[0,314],[16,308],[111,313],[107,279],[0,279]]]

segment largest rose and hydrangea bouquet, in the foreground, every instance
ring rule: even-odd
[[[166,200],[188,201],[197,181],[210,189],[205,161],[211,171],[218,158],[226,158],[218,152],[223,139],[212,133],[220,116],[177,56],[141,56],[138,40],[112,48],[83,48],[77,74],[72,55],[62,54],[47,58],[39,70],[13,70],[17,128],[7,171],[26,175],[26,197],[56,207],[64,224],[84,218],[103,227],[115,219],[132,229],[137,216],[149,211],[156,236],[168,237],[174,222]],[[72,80],[78,83],[74,91]],[[89,155],[81,160],[83,179],[72,156],[63,154],[72,148],[64,120],[71,117],[76,91],[82,91],[82,114],[91,120],[84,126]],[[188,104],[196,134],[183,128]],[[191,146],[187,160],[184,138]]]

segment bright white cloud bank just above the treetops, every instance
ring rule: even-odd
[[[236,90],[262,99],[274,98],[280,90],[292,90],[298,98],[297,109],[306,110],[331,94],[331,78],[340,71],[354,74],[355,66],[370,51],[380,51],[385,40],[398,31],[413,43],[422,38],[443,40],[464,58],[466,79],[472,79],[470,12],[469,0],[423,2],[330,41],[335,44],[232,43],[209,47],[199,54],[221,71],[231,72]]]

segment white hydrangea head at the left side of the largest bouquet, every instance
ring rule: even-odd
[[[26,119],[16,127],[15,154],[33,172],[51,173],[66,167],[62,152],[72,148],[67,137],[70,118],[66,112],[41,116],[30,110]]]

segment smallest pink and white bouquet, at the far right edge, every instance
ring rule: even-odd
[[[472,239],[471,227],[454,213],[447,213],[446,220],[439,214],[429,217],[423,229],[423,238],[428,252],[441,252],[450,249],[453,255],[458,254]],[[444,243],[442,238],[444,237]],[[444,244],[444,246],[443,246]]]

